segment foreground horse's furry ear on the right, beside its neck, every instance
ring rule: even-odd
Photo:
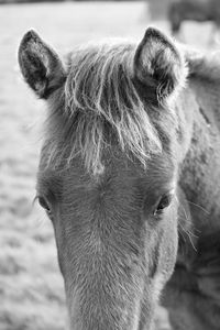
[[[158,30],[148,28],[134,55],[134,76],[146,92],[163,101],[183,86],[187,69],[175,45]]]

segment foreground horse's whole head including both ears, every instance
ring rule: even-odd
[[[128,48],[123,48],[123,59],[124,52]],[[164,105],[185,76],[179,54],[158,31],[148,29],[127,57],[133,61],[132,65],[127,61],[130,69],[124,70],[120,62],[116,72],[116,59],[110,66],[109,58],[95,63],[95,54],[82,85],[77,80],[84,72],[82,59],[74,65],[79,67],[77,74],[73,68],[66,72],[57,55],[33,32],[24,36],[19,58],[24,78],[47,99],[51,111],[37,195],[54,226],[70,328],[150,330],[177,250],[175,130]],[[108,68],[108,79],[96,94],[101,64],[103,76]],[[69,99],[74,108],[70,103],[72,108],[64,109]],[[91,100],[96,100],[96,109]],[[162,116],[165,122],[161,110],[166,112]],[[157,139],[161,151],[154,153],[152,145]],[[59,163],[52,156],[54,148]]]

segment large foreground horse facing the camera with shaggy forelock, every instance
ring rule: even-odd
[[[72,330],[220,324],[220,59],[148,28],[62,59],[19,47],[47,105],[36,196],[52,221]]]

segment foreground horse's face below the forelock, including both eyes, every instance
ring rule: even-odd
[[[170,162],[155,157],[144,172],[109,155],[98,179],[80,160],[58,175],[42,164],[37,193],[55,230],[70,329],[151,329],[176,258]]]

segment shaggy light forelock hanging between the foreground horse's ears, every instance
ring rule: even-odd
[[[161,152],[161,139],[132,81],[134,51],[133,44],[108,43],[69,54],[65,89],[52,106],[52,122],[59,113],[50,138],[55,162],[69,164],[80,154],[86,168],[97,174],[108,146],[120,146],[144,166],[152,153]]]

